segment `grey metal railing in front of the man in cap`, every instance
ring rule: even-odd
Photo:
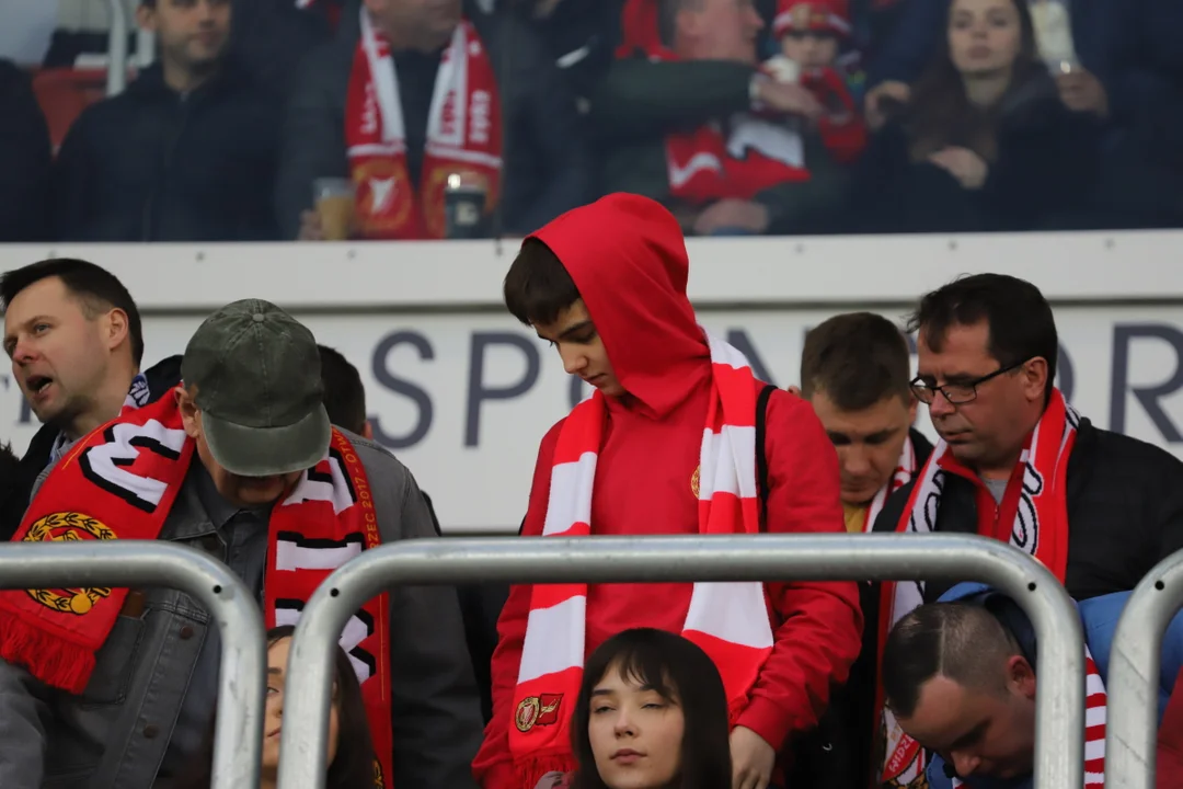
[[[221,630],[212,789],[259,785],[266,645],[254,596],[201,551],[144,539],[0,544],[0,589],[166,587],[201,601]]]

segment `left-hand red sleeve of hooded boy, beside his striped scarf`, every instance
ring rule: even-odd
[[[550,468],[562,423],[561,420],[551,427],[538,447],[530,504],[522,524],[522,535],[526,537],[542,535],[547,519],[547,499],[550,497]],[[483,789],[515,787],[509,741],[510,706],[513,704],[513,688],[522,665],[522,641],[525,639],[525,621],[530,614],[530,588],[528,583],[511,586],[510,596],[497,620],[497,648],[490,666],[493,717],[485,726],[485,741],[477,751],[477,758],[472,761],[472,775]]]

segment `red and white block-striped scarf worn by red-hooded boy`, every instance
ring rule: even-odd
[[[743,354],[706,335],[711,397],[699,457],[699,533],[757,533],[756,382]],[[568,415],[550,472],[545,537],[592,533],[592,496],[606,403],[596,392]],[[583,678],[587,584],[535,584],[517,690],[510,752],[517,785],[574,768],[568,725]],[[681,634],[715,660],[732,720],[772,649],[762,583],[696,583]]]

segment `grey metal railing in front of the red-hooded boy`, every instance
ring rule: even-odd
[[[414,539],[364,551],[330,575],[292,642],[279,787],[324,789],[332,655],[347,620],[395,584],[510,581],[981,581],[1011,595],[1039,639],[1035,785],[1080,789],[1084,640],[1080,616],[1047,568],[967,535],[754,535]]]

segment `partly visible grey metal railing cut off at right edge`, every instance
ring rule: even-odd
[[[1183,607],[1183,551],[1134,587],[1113,633],[1105,722],[1105,785],[1153,789],[1163,635]]]

